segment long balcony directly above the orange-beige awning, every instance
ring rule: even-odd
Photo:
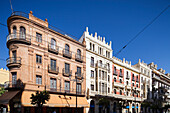
[[[53,88],[53,87],[47,86],[47,90],[52,93],[76,95],[76,89],[74,88],[65,89],[65,87]],[[85,91],[77,90],[77,95],[85,95]]]

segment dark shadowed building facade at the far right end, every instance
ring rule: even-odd
[[[168,112],[166,106],[170,105],[170,74],[165,74],[162,68],[157,69],[157,65],[153,62],[148,66],[152,70],[152,104],[155,106],[150,110],[159,113]]]

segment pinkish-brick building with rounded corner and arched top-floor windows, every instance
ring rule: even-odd
[[[78,113],[88,107],[86,90],[86,44],[58,31],[29,14],[14,12],[7,20],[9,35],[9,82],[6,95],[10,111],[34,113],[31,94],[49,91],[50,100],[43,112]],[[7,96],[6,96],[7,97]],[[77,98],[76,98],[77,97]]]

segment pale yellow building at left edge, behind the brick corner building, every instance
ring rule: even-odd
[[[9,71],[6,69],[0,69],[0,84],[4,84],[6,81],[9,81]]]

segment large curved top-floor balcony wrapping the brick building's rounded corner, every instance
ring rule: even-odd
[[[21,35],[20,33],[11,33],[7,36],[7,47],[9,48],[9,45],[11,43],[23,43],[31,45],[31,35]]]

